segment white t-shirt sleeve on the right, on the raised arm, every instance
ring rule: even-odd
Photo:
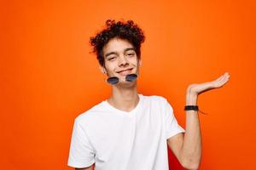
[[[164,116],[165,116],[165,129],[166,129],[166,139],[171,138],[177,133],[184,133],[183,127],[179,126],[177,120],[173,114],[172,105],[166,100],[164,106]]]

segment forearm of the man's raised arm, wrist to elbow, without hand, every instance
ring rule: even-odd
[[[197,94],[187,92],[186,105],[197,105]],[[184,134],[183,164],[197,169],[201,161],[201,129],[197,111],[186,111],[186,132]]]

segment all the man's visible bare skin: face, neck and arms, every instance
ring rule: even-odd
[[[112,95],[107,99],[108,103],[127,112],[136,107],[139,97],[137,82],[126,82],[125,75],[132,73],[138,75],[139,66],[142,65],[141,59],[137,59],[137,54],[132,48],[132,44],[126,40],[111,39],[103,48],[105,66],[100,66],[107,77],[119,77],[119,82],[112,86]],[[125,71],[127,69],[131,71]],[[124,72],[119,73],[119,71]],[[229,81],[229,77],[229,73],[225,73],[212,82],[189,85],[186,91],[186,105],[197,105],[199,94],[221,88]],[[201,129],[197,111],[186,111],[185,130],[185,133],[177,133],[166,142],[184,168],[198,169],[201,162]],[[76,169],[92,170],[93,165]]]

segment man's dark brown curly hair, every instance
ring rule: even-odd
[[[142,29],[134,24],[132,20],[127,20],[127,22],[107,20],[106,27],[104,30],[98,32],[96,37],[90,37],[90,45],[93,47],[93,52],[96,53],[100,65],[104,66],[105,63],[102,48],[114,37],[131,42],[138,59],[141,58],[140,48],[141,43],[145,41],[145,36]]]

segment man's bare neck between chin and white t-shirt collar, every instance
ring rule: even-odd
[[[113,107],[121,111],[133,110],[137,106],[138,101],[139,97],[136,83],[129,88],[113,86],[112,95],[108,99],[110,105],[113,105]]]

